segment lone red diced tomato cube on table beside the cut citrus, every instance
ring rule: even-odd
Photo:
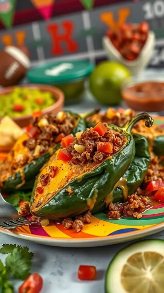
[[[91,265],[80,265],[78,268],[78,279],[79,280],[95,280],[96,278],[96,267]]]

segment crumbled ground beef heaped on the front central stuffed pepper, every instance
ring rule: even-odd
[[[71,153],[71,162],[76,164],[86,164],[88,162],[101,163],[109,155],[113,155],[119,149],[127,143],[127,138],[123,137],[120,132],[114,131],[111,127],[104,123],[107,131],[104,135],[99,135],[97,131],[92,129],[86,129],[81,134],[79,139],[75,139],[73,143],[69,145],[67,150]],[[109,142],[111,143],[111,153],[106,153],[97,150],[98,142]],[[83,146],[84,151],[76,151],[75,145]]]

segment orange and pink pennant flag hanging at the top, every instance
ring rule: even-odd
[[[44,19],[50,19],[55,0],[31,0],[31,2]]]

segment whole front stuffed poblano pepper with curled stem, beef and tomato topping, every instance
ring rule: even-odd
[[[44,166],[34,185],[32,214],[49,219],[73,217],[92,210],[113,190],[135,156],[132,126],[146,119],[134,117],[122,128],[99,122],[94,128],[76,133],[69,147],[58,149]]]

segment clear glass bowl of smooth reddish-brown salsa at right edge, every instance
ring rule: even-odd
[[[121,91],[126,105],[135,111],[160,112],[164,110],[164,80],[159,78],[126,79]]]

